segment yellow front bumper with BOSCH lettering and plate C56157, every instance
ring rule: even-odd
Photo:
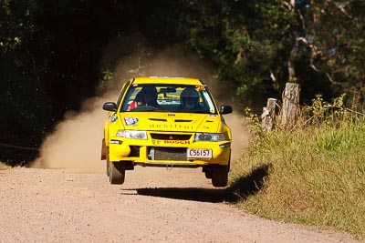
[[[206,152],[209,157],[190,157],[188,149]],[[109,153],[111,162],[128,161],[143,167],[205,167],[212,164],[227,166],[231,155],[231,141],[176,142],[113,138],[110,140]]]

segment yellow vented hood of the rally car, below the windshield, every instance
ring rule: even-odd
[[[217,132],[221,117],[211,114],[134,112],[120,113],[125,129],[146,131]]]

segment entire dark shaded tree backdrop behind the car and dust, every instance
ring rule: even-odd
[[[361,103],[364,10],[357,0],[1,0],[0,160],[32,161],[59,122],[131,76],[193,74],[239,112],[280,99],[287,82],[302,104],[343,92]]]

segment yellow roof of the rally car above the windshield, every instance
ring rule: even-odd
[[[173,76],[140,76],[132,78],[132,84],[175,84],[175,85],[193,85],[201,86],[203,82],[197,78],[191,77],[173,77]]]

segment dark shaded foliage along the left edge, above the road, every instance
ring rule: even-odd
[[[3,0],[0,5],[0,142],[7,145],[39,147],[50,120],[29,45],[36,31],[36,11],[32,1]],[[4,146],[0,153],[0,159],[13,165],[36,157],[35,150]]]

